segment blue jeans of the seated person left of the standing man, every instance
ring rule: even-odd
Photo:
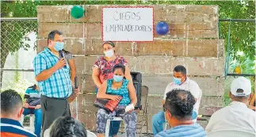
[[[24,108],[23,115],[35,115],[35,134],[37,137],[40,137],[41,126],[42,126],[42,111],[41,109],[26,109]]]

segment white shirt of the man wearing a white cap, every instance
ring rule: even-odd
[[[205,131],[217,131],[225,129],[256,132],[255,116],[252,109],[248,109],[243,102],[231,102],[213,113]]]

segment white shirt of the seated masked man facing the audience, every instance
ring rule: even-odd
[[[201,91],[200,87],[198,86],[198,84],[195,81],[190,80],[188,76],[187,76],[185,82],[181,83],[181,85],[171,82],[166,87],[166,91],[164,93],[163,100],[166,100],[166,94],[169,91],[172,91],[173,89],[181,89],[181,90],[185,90],[185,91],[190,91],[190,93],[194,96],[194,98],[197,98],[197,102],[193,106],[193,108],[198,114],[198,110],[199,110],[199,106],[200,106],[200,102],[201,102],[201,96],[202,96],[202,91]]]

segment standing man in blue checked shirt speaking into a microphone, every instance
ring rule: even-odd
[[[37,54],[33,61],[41,94],[42,135],[56,118],[71,116],[68,98],[77,96],[79,92],[77,88],[72,94],[70,66],[63,57],[63,47],[63,33],[51,31],[48,35],[48,47]]]

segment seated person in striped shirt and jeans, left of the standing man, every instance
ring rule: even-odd
[[[35,115],[35,134],[37,135],[37,137],[40,137],[41,127],[42,127],[42,111],[41,111],[41,105],[40,105],[39,87],[36,84],[29,87],[25,91],[24,98],[26,98],[26,101],[23,104],[23,107],[24,107],[23,115],[24,116],[27,116],[29,114]]]

